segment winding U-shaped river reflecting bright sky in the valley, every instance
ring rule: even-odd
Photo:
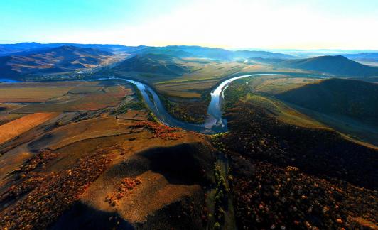
[[[139,91],[141,92],[144,101],[146,102],[147,106],[153,114],[155,114],[156,118],[161,121],[161,123],[166,124],[167,126],[171,127],[179,127],[183,128],[188,131],[195,131],[198,133],[205,133],[205,134],[212,134],[212,133],[222,133],[227,131],[227,120],[222,118],[222,98],[223,98],[223,90],[230,82],[234,80],[238,80],[244,77],[251,77],[251,76],[261,76],[261,75],[273,75],[273,74],[254,74],[254,75],[242,75],[238,77],[232,77],[221,84],[219,84],[212,92],[211,92],[211,101],[209,107],[207,108],[207,114],[209,115],[204,124],[190,124],[183,121],[179,121],[178,119],[173,118],[168,111],[166,111],[165,107],[163,106],[158,94],[156,94],[151,87],[147,84],[137,82],[135,80],[128,80],[124,78],[118,77],[109,77],[107,79],[119,79],[125,80],[127,82],[131,82],[138,87]],[[148,92],[151,93],[153,100],[151,100]]]

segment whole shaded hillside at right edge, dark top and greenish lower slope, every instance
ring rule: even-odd
[[[352,138],[378,145],[377,84],[332,79],[276,97]]]

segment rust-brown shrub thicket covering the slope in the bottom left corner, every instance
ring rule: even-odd
[[[37,158],[41,159],[40,156]],[[38,161],[40,160],[31,160],[30,162]],[[77,165],[67,170],[32,173],[21,184],[36,181],[34,185],[38,184],[38,187],[33,186],[34,190],[26,197],[19,199],[11,208],[3,209],[0,212],[1,228],[47,228],[75,200],[80,199],[80,194],[102,174],[107,163],[109,160],[106,155],[97,152],[80,159]],[[30,188],[28,185],[26,187]],[[12,190],[11,188],[9,192]]]

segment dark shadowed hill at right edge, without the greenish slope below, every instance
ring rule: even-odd
[[[323,114],[340,114],[378,125],[378,84],[334,78],[276,97]]]

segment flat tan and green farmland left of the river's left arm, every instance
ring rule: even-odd
[[[2,92],[1,92],[2,91]],[[38,82],[2,84],[4,102],[18,103],[12,114],[62,111],[90,111],[117,106],[132,94],[124,82]],[[22,105],[33,102],[33,104]],[[7,109],[9,111],[9,109]]]

